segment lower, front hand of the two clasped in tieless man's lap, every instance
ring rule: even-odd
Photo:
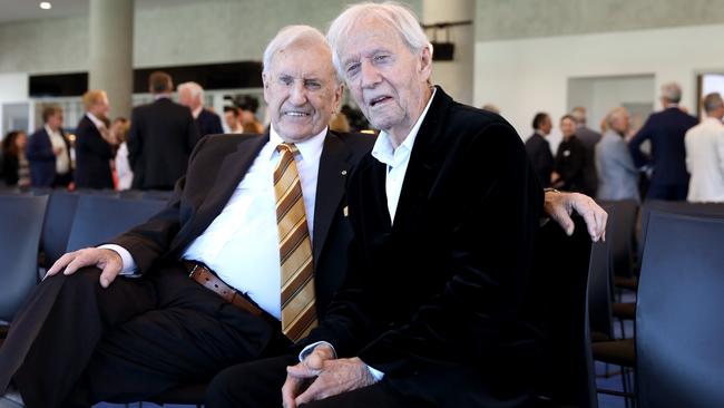
[[[290,377],[295,376],[297,366],[286,369],[287,381]],[[375,379],[368,366],[356,357],[351,359],[326,360],[323,362],[322,371],[314,382],[304,392],[300,394],[293,404],[290,404],[291,401],[287,402],[287,396],[283,392],[284,407],[295,408],[302,404],[371,386],[374,382]],[[296,392],[299,394],[300,390],[297,388]]]

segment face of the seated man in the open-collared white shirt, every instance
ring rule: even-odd
[[[430,50],[413,54],[389,25],[365,18],[340,41],[339,56],[350,93],[372,126],[405,137],[430,95]]]

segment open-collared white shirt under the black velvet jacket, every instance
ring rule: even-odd
[[[392,223],[394,223],[394,215],[398,211],[400,193],[402,192],[402,183],[404,182],[404,175],[410,164],[412,146],[414,146],[414,139],[418,137],[418,132],[420,132],[420,125],[422,125],[422,120],[428,115],[428,109],[430,109],[437,88],[432,88],[432,95],[430,96],[430,100],[428,100],[428,105],[398,148],[392,147],[390,134],[385,130],[380,132],[374,147],[372,147],[372,157],[388,166],[384,190],[388,196],[388,211],[390,212],[390,221]]]

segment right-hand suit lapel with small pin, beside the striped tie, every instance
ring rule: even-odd
[[[350,156],[351,152],[346,145],[334,134],[327,132],[316,178],[314,236],[312,240],[314,260],[320,259],[334,214],[344,196],[346,177],[351,167]]]

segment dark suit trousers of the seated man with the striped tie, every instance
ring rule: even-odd
[[[88,268],[45,280],[0,349],[0,389],[12,376],[26,405],[87,407],[207,381],[262,356],[281,330],[188,279],[180,265],[108,288]],[[3,383],[4,381],[4,383]]]

